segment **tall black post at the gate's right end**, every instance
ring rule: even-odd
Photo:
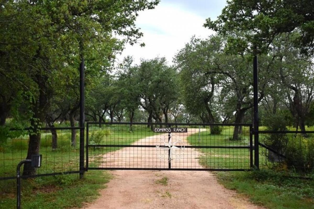
[[[259,169],[258,151],[258,71],[257,71],[257,48],[255,47],[253,59],[253,96],[254,96],[254,165]]]

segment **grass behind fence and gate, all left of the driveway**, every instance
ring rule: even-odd
[[[148,137],[154,134],[149,128],[133,125],[133,131],[130,132],[129,126],[91,126],[89,129],[89,139],[92,135],[98,133],[100,141],[98,144],[132,144],[140,138]],[[76,171],[79,167],[79,132],[76,134],[76,145],[71,146],[71,132],[69,130],[58,130],[58,149],[51,148],[51,133],[43,131],[41,133],[40,154],[42,154],[42,166],[37,173],[54,173],[64,171]],[[85,136],[86,137],[86,136]],[[86,144],[86,142],[85,142]],[[91,143],[89,143],[91,144]],[[15,176],[16,165],[22,159],[25,159],[28,149],[28,135],[9,139],[5,144],[0,145],[0,177]],[[121,147],[89,148],[89,156],[92,159],[95,156],[110,151],[121,149]],[[90,160],[89,159],[89,160]],[[0,188],[1,191],[1,188]]]

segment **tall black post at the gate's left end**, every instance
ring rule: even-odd
[[[79,116],[79,177],[84,176],[84,129],[85,129],[85,118],[84,118],[84,58],[82,58],[79,68],[79,90],[80,90],[80,116]]]

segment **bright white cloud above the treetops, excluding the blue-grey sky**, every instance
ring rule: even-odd
[[[154,10],[141,12],[136,25],[141,28],[145,47],[127,45],[118,62],[131,55],[138,64],[140,59],[165,56],[171,64],[174,55],[189,42],[193,35],[206,38],[212,30],[203,27],[205,19],[174,4],[161,3]]]

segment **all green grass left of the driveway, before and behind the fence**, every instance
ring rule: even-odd
[[[93,135],[94,134],[94,135]],[[133,143],[144,136],[155,134],[146,127],[103,126],[92,127],[89,138],[98,144]],[[40,154],[43,155],[42,167],[38,174],[77,171],[79,162],[79,135],[77,143],[71,146],[69,130],[58,130],[58,149],[51,148],[51,133],[42,131]],[[93,135],[93,136],[92,136]],[[98,135],[98,136],[96,136]],[[93,138],[94,137],[94,138]],[[97,139],[98,138],[98,139]],[[96,139],[96,140],[95,140]],[[98,140],[98,141],[97,141]],[[15,176],[16,165],[25,159],[28,148],[28,136],[9,139],[0,145],[0,177]],[[114,148],[119,149],[117,147]],[[90,151],[93,152],[93,148]],[[99,149],[95,149],[99,151]],[[102,152],[113,151],[112,149]],[[95,165],[95,162],[90,162]],[[22,180],[23,208],[71,208],[81,207],[83,202],[97,198],[98,189],[104,188],[110,176],[107,172],[89,170],[83,180],[78,174],[56,175]],[[16,207],[16,180],[0,180],[0,208]]]

